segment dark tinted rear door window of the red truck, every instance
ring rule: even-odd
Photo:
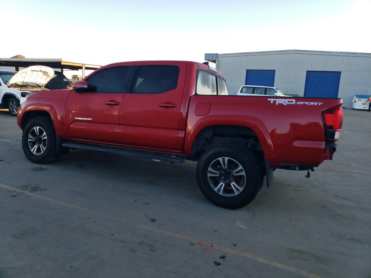
[[[164,93],[178,86],[179,67],[139,66],[134,78],[132,93]]]

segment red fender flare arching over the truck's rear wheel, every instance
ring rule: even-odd
[[[257,138],[262,145],[264,157],[267,159],[270,165],[277,165],[276,153],[266,126],[260,119],[252,116],[210,115],[202,117],[201,119],[197,120],[193,126],[188,125],[184,143],[185,154],[191,156],[193,144],[201,130],[207,128],[208,126],[217,125],[233,125],[250,128],[256,133]]]

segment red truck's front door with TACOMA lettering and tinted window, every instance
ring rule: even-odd
[[[121,143],[119,112],[129,66],[109,67],[93,73],[86,82],[93,92],[68,95],[63,130],[69,139]]]

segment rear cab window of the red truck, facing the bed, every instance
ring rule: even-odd
[[[206,69],[197,70],[197,95],[228,95],[226,80],[216,72]]]

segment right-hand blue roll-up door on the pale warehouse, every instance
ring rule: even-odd
[[[338,97],[341,72],[306,72],[305,97]]]

